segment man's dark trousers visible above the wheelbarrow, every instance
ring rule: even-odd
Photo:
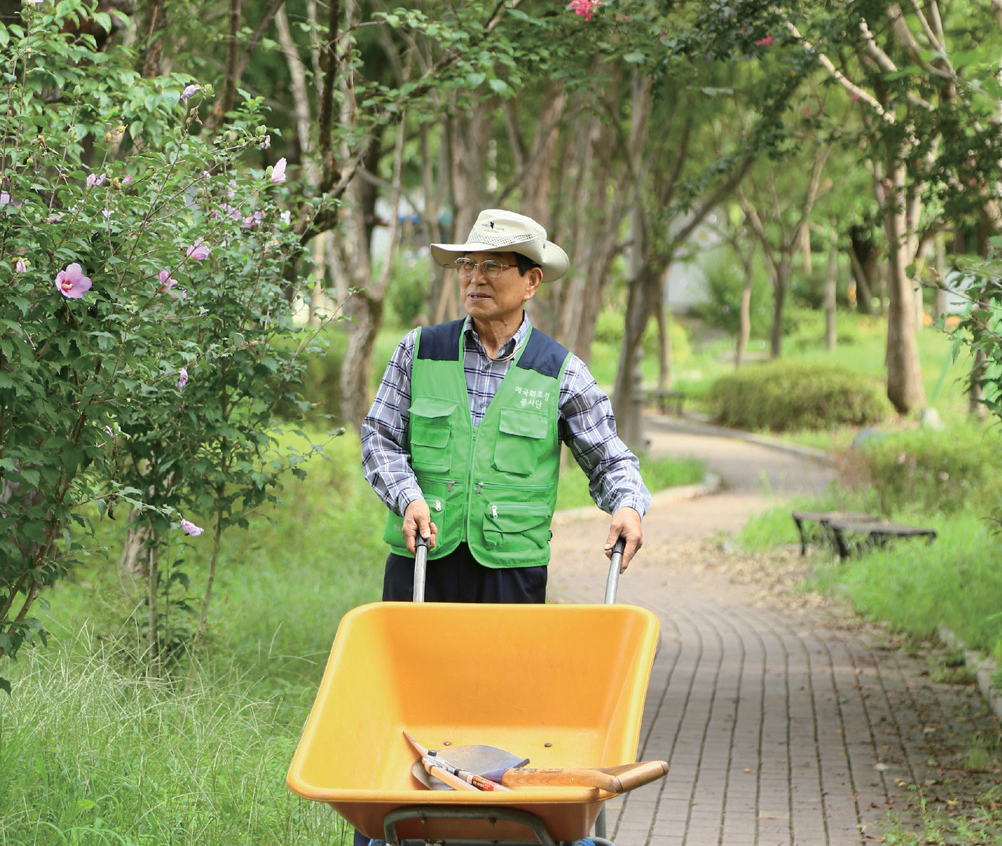
[[[414,558],[391,552],[383,575],[384,601],[414,596]],[[465,543],[428,562],[427,602],[545,602],[546,567],[485,567]]]

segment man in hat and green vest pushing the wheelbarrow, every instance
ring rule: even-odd
[[[420,535],[428,601],[545,601],[561,443],[612,515],[605,552],[622,537],[625,570],[650,504],[639,462],[584,363],[524,311],[567,255],[500,209],[482,212],[465,244],[431,252],[458,270],[467,317],[401,341],[362,425],[366,479],[390,509],[383,598],[412,597]]]

